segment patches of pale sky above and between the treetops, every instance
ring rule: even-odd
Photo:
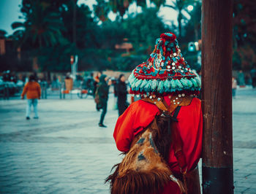
[[[11,24],[15,21],[22,21],[18,17],[21,16],[20,13],[20,7],[18,7],[21,4],[22,0],[0,0],[0,29],[7,31],[7,34],[12,34],[12,28]],[[170,4],[171,0],[167,0],[167,4]],[[96,4],[95,0],[78,0],[78,4],[87,4],[92,9],[93,4]],[[147,2],[149,6],[149,1]],[[129,7],[128,12],[132,13],[135,12],[137,9],[137,12],[141,12],[140,7],[136,7],[136,4],[132,4]],[[113,13],[110,13],[108,15],[110,19],[114,20],[116,18],[116,15]],[[124,15],[124,18],[126,18],[127,15]],[[163,21],[170,25],[170,21],[173,20],[175,23],[177,23],[177,12],[173,11],[173,9],[170,9],[168,7],[161,7],[159,10],[159,17],[163,19]]]

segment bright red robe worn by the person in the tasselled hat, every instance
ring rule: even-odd
[[[170,101],[167,101],[167,104],[170,104]],[[128,152],[136,134],[143,131],[159,114],[159,109],[154,104],[141,100],[132,103],[124,114],[118,118],[113,133],[118,150]],[[191,171],[197,166],[202,151],[203,117],[201,101],[198,98],[193,98],[188,106],[181,106],[177,119],[178,123],[176,125],[184,143],[183,152],[187,160],[187,169]],[[177,159],[171,147],[168,164],[171,171],[176,174],[180,173]],[[180,193],[180,191],[178,185],[170,182],[165,186],[162,193],[174,194]]]

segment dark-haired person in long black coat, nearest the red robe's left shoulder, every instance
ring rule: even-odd
[[[124,74],[121,74],[116,85],[118,115],[122,115],[127,109],[127,85]]]

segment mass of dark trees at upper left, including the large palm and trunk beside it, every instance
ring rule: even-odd
[[[72,44],[74,4],[76,11],[77,42]],[[97,24],[85,4],[78,7],[76,0],[23,0],[20,12],[25,22],[12,23],[16,31],[12,39],[21,46],[23,53],[29,52],[29,63],[37,58],[41,71],[68,71],[70,55],[84,53],[81,50],[94,47]],[[25,55],[21,63],[26,61]],[[28,62],[28,61],[26,61]]]

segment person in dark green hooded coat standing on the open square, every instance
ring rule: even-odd
[[[107,83],[108,82],[108,83]],[[99,77],[99,84],[97,87],[97,96],[99,98],[98,108],[102,109],[102,114],[100,115],[99,127],[106,128],[107,126],[103,124],[104,117],[107,113],[108,108],[108,90],[111,85],[111,80],[105,74]]]

